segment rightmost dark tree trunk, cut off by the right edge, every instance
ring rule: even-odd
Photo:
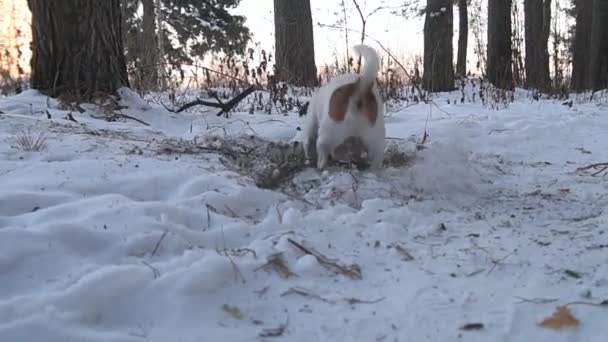
[[[608,0],[593,1],[587,88],[608,87]]]

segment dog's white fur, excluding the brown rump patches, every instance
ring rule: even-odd
[[[327,166],[329,155],[334,149],[349,137],[360,137],[368,150],[368,158],[372,170],[382,166],[384,149],[386,147],[386,128],[384,127],[384,104],[376,87],[372,93],[378,104],[378,115],[375,123],[360,113],[351,99],[344,121],[336,122],[329,116],[329,100],[333,92],[346,84],[355,83],[358,79],[365,86],[376,80],[378,72],[378,54],[366,45],[357,45],[353,48],[363,57],[363,70],[360,75],[343,74],[327,85],[321,87],[313,95],[308,106],[304,124],[304,150],[306,158],[310,159],[316,148],[317,167],[323,169]]]

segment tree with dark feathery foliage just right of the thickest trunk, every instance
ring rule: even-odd
[[[241,0],[122,2],[128,65],[144,86],[149,74],[158,72],[153,66],[179,68],[209,52],[243,53],[251,39],[245,17],[230,13]]]

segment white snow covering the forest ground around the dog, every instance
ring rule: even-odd
[[[411,150],[427,127],[412,165],[306,169],[294,193],[153,146],[289,142],[297,115],[173,114],[122,90],[145,126],[0,99],[0,340],[605,341],[606,306],[580,303],[608,298],[608,176],[577,168],[608,161],[608,106],[459,96],[386,118]],[[28,129],[46,149],[16,148]],[[578,327],[538,325],[567,303]]]

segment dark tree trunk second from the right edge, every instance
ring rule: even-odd
[[[576,26],[572,48],[572,89],[587,89],[593,0],[576,0]]]

